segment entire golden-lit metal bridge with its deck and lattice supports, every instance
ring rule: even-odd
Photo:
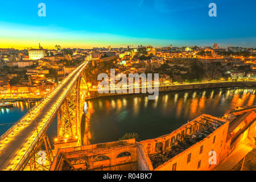
[[[53,153],[46,135],[57,114],[58,140],[81,145],[80,122],[88,88],[85,61],[0,137],[0,170],[47,170]],[[42,147],[44,146],[44,151]],[[38,154],[38,151],[43,152]],[[44,155],[45,158],[38,160]],[[47,159],[47,162],[44,161]]]

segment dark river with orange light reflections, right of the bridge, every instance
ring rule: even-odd
[[[228,109],[251,106],[255,88],[222,88],[97,98],[88,101],[84,144],[118,140],[125,133],[140,139],[171,133],[201,114],[220,117]]]

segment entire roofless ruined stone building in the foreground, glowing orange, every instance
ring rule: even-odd
[[[212,170],[241,142],[254,143],[256,106],[228,111],[222,118],[203,114],[170,134],[59,148],[51,170]]]

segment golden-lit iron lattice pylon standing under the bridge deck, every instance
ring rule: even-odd
[[[88,94],[89,90],[86,84],[85,72],[82,72],[57,112],[55,149],[64,146],[81,146],[80,125]]]

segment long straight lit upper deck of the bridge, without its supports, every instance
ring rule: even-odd
[[[0,170],[19,170],[47,131],[69,90],[76,82],[87,61],[70,73],[51,94],[34,106],[0,138]]]

